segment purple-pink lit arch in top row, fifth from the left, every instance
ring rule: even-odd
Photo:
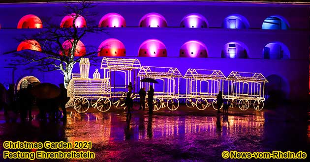
[[[207,28],[208,21],[204,16],[198,13],[191,13],[182,19],[181,27]]]

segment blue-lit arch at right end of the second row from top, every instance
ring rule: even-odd
[[[272,42],[267,44],[263,49],[264,59],[289,59],[290,53],[288,48],[281,42]]]

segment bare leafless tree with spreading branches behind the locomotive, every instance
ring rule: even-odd
[[[72,24],[64,24],[60,27],[59,24],[49,24],[46,21],[43,23],[44,28],[39,29],[38,33],[31,36],[23,36],[23,40],[34,39],[36,42],[28,41],[32,49],[23,50],[13,53],[14,57],[18,57],[15,61],[11,62],[11,66],[27,65],[26,70],[39,70],[42,72],[60,70],[63,74],[63,83],[65,87],[71,80],[72,69],[75,63],[79,62],[81,58],[88,57],[90,60],[95,61],[98,49],[95,47],[81,47],[80,40],[87,33],[104,32],[102,28],[95,25],[90,27],[78,27],[77,22],[79,19],[87,16],[94,16],[95,14],[89,12],[94,4],[86,1],[67,3],[65,5],[66,13],[72,17]],[[72,25],[72,26],[71,26]],[[68,27],[66,27],[68,26]],[[87,53],[79,49],[87,49]],[[27,54],[28,53],[28,54]]]

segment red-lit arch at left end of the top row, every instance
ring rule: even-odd
[[[31,14],[23,16],[17,24],[17,28],[42,28],[42,27],[43,25],[41,19]]]

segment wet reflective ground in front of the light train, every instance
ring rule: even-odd
[[[0,112],[1,154],[7,150],[2,146],[5,140],[89,140],[93,144],[90,151],[96,157],[89,161],[94,162],[225,161],[221,157],[224,150],[304,151],[310,156],[310,112],[304,106],[262,111],[232,108],[228,114],[217,114],[213,108],[200,111],[182,106],[177,111],[160,110],[151,116],[147,111],[134,110],[130,120],[126,120],[123,110],[115,108],[105,113],[70,110],[66,122],[5,121]]]

